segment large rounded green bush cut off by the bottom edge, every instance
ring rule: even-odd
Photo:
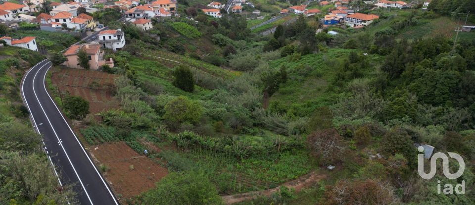
[[[146,205],[221,205],[221,197],[209,179],[200,173],[170,173],[155,189],[145,193]]]

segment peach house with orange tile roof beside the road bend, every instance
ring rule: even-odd
[[[102,51],[99,44],[80,44],[80,45],[73,45],[69,47],[63,55],[66,57],[66,62],[64,64],[69,68],[78,68],[84,69],[79,65],[78,53],[80,50],[86,51],[89,58],[89,66],[91,70],[97,70],[102,65],[109,65],[110,67],[114,67],[114,61],[112,58],[104,59],[104,51]]]

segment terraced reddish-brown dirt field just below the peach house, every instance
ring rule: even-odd
[[[89,101],[92,114],[103,110],[119,108],[119,102],[112,96],[115,74],[101,71],[64,68],[55,70],[51,76],[54,86],[59,86],[61,93],[68,92]],[[96,87],[92,87],[96,82]]]

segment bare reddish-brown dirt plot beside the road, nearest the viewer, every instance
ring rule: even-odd
[[[166,168],[139,155],[124,142],[94,145],[89,151],[98,167],[105,164],[109,168],[103,175],[114,193],[122,195],[122,202],[155,187],[168,174]]]

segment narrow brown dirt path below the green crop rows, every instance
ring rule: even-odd
[[[320,181],[321,179],[325,179],[326,177],[327,175],[325,174],[318,174],[315,171],[312,171],[311,173],[301,176],[300,178],[295,179],[293,181],[289,181],[283,184],[282,186],[286,186],[288,188],[294,188],[295,192],[300,192],[302,188],[309,187],[310,185]],[[226,196],[222,196],[222,198],[223,198],[223,201],[227,205],[232,205],[235,203],[255,199],[258,196],[271,197],[273,193],[276,193],[279,190],[280,188],[277,187],[277,188],[267,189],[263,191],[248,192],[248,193],[235,194],[235,195],[226,195]]]

